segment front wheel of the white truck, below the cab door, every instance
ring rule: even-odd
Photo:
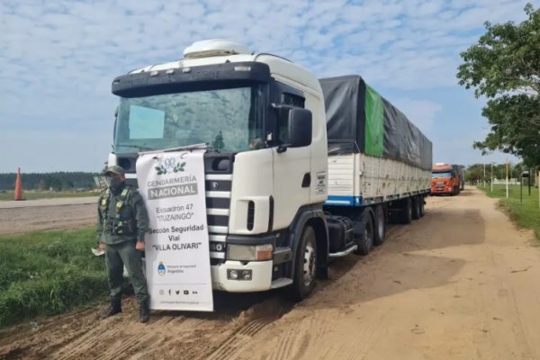
[[[290,296],[300,302],[310,296],[317,278],[317,239],[315,230],[307,225],[302,231],[300,244],[296,250],[293,285]]]

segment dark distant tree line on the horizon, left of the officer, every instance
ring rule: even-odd
[[[21,174],[23,190],[74,190],[95,187],[97,173],[56,172]],[[0,191],[14,190],[16,173],[0,174]]]

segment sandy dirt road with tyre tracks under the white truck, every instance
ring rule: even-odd
[[[293,305],[277,294],[225,295],[214,313],[154,311],[133,300],[0,333],[0,359],[538,359],[540,256],[476,190],[429,198],[368,257],[333,265]]]

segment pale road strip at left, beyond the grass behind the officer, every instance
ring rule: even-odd
[[[91,226],[96,204],[97,197],[0,202],[0,235]]]

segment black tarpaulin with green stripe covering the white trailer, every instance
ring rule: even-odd
[[[320,85],[329,154],[361,152],[431,169],[431,141],[361,76],[324,78]]]

